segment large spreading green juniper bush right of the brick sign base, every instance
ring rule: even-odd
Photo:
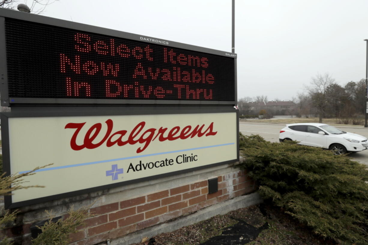
[[[241,167],[267,201],[340,244],[368,244],[368,168],[329,150],[240,135]]]

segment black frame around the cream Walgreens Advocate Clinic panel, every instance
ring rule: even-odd
[[[0,119],[1,119],[1,138],[3,139],[3,169],[4,172],[6,172],[5,176],[10,176],[11,174],[15,174],[15,173],[11,173],[11,159],[10,159],[10,145],[9,145],[9,118],[17,118],[17,117],[24,117],[24,118],[31,118],[31,117],[84,117],[84,116],[126,116],[126,115],[160,115],[160,114],[205,114],[205,113],[235,113],[236,114],[236,118],[239,117],[239,111],[238,110],[234,110],[234,109],[217,109],[217,110],[207,110],[207,109],[202,109],[202,110],[197,110],[197,109],[192,109],[192,110],[187,110],[187,109],[183,109],[183,110],[176,110],[176,111],[168,111],[165,109],[154,109],[154,110],[145,110],[145,111],[135,111],[135,110],[130,110],[130,111],[103,111],[103,110],[98,110],[98,111],[84,111],[84,112],[60,112],[60,111],[53,111],[53,112],[45,112],[45,111],[39,111],[39,112],[25,112],[25,111],[21,111],[21,112],[9,112],[9,113],[0,113]],[[234,122],[232,122],[234,123]],[[239,121],[236,120],[235,121],[236,124],[236,132],[239,132]],[[77,196],[77,195],[83,195],[86,193],[90,193],[90,192],[96,192],[96,191],[102,191],[105,189],[111,189],[111,188],[116,188],[116,187],[120,187],[120,186],[125,186],[125,185],[130,185],[130,184],[135,184],[135,183],[139,183],[139,182],[143,182],[143,181],[149,181],[149,180],[155,180],[155,179],[159,179],[159,178],[164,178],[164,177],[169,177],[169,176],[174,176],[174,175],[179,175],[179,174],[184,174],[184,173],[189,173],[192,171],[197,171],[197,170],[202,170],[202,169],[206,169],[206,168],[211,168],[211,167],[216,167],[216,166],[220,166],[220,165],[224,165],[224,164],[231,164],[234,162],[239,161],[240,159],[240,152],[239,152],[239,137],[238,137],[238,133],[236,133],[236,158],[235,159],[230,159],[227,161],[223,161],[223,162],[217,162],[217,163],[212,163],[212,164],[208,164],[205,166],[199,166],[199,167],[194,167],[194,168],[187,168],[187,169],[183,169],[183,170],[179,170],[179,171],[173,171],[173,172],[169,172],[169,173],[164,173],[164,174],[158,174],[158,175],[152,175],[149,177],[143,177],[143,178],[138,178],[138,179],[134,179],[134,180],[129,180],[129,181],[123,181],[123,182],[118,182],[118,183],[114,183],[114,184],[108,184],[108,185],[101,185],[101,186],[97,186],[97,187],[92,187],[92,188],[87,188],[87,189],[80,189],[78,191],[72,191],[72,192],[65,192],[65,193],[61,193],[61,194],[56,194],[56,195],[50,195],[50,196],[45,196],[42,198],[36,198],[36,199],[30,199],[30,200],[25,200],[25,201],[21,201],[21,202],[13,202],[12,201],[12,197],[11,195],[6,195],[4,196],[4,206],[5,209],[13,209],[13,208],[17,208],[17,207],[22,207],[22,206],[28,206],[28,205],[33,205],[36,203],[42,203],[42,202],[49,202],[49,201],[53,201],[53,200],[57,200],[57,199],[61,199],[61,198],[69,198],[72,196]]]

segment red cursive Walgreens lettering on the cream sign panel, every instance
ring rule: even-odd
[[[114,123],[113,120],[108,119],[105,121],[107,125],[106,131],[102,132],[102,124],[96,123],[90,127],[85,135],[79,135],[81,129],[86,123],[68,123],[65,129],[75,129],[74,134],[70,139],[70,147],[73,150],[95,149],[99,146],[105,145],[111,147],[113,145],[124,146],[126,144],[135,145],[139,144],[137,153],[143,152],[152,141],[175,141],[177,139],[188,139],[202,136],[213,136],[217,134],[217,131],[213,129],[213,122],[209,125],[187,125],[185,127],[175,126],[173,128],[146,128],[146,122],[142,121],[138,123],[134,128],[119,129],[113,132]],[[103,135],[103,139],[100,142],[92,143],[99,135]],[[84,138],[81,145],[77,144],[77,138]]]

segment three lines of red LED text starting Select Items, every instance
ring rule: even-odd
[[[59,54],[59,71],[65,74],[68,97],[214,98],[215,77],[208,71],[210,60],[206,57],[167,47],[128,45],[112,38],[96,40],[83,33],[73,38],[74,54]],[[129,60],[119,64],[120,57]]]

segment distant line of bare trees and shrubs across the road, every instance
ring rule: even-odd
[[[295,106],[277,110],[275,107],[265,107],[267,96],[243,97],[238,100],[240,115],[295,115],[297,117],[340,118],[354,120],[364,117],[366,110],[365,79],[358,82],[347,82],[341,86],[328,73],[317,74],[311,84],[305,86],[304,93],[293,97]],[[275,100],[279,101],[278,99]],[[268,103],[270,104],[270,103]],[[266,110],[261,111],[261,110]]]

